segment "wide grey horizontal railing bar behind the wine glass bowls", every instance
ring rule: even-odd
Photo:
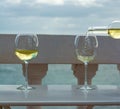
[[[0,34],[0,63],[22,63],[14,53],[16,34]],[[38,34],[39,54],[31,63],[75,64],[75,35]],[[120,40],[108,36],[98,36],[99,47],[93,64],[119,64]]]

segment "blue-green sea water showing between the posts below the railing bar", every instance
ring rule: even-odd
[[[42,84],[76,85],[77,80],[73,75],[70,64],[50,64],[47,75]],[[21,64],[1,64],[0,84],[23,84]],[[120,72],[115,64],[100,64],[96,76],[92,80],[94,85],[120,85]],[[12,109],[26,109],[25,106],[12,106]],[[77,109],[76,106],[43,106],[42,109]],[[85,107],[81,108],[85,109]],[[94,106],[93,109],[120,109],[120,106]]]

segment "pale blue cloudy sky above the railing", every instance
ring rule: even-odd
[[[120,0],[0,0],[0,33],[84,34],[120,19]]]

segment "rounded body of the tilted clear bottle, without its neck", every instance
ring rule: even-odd
[[[108,34],[114,39],[120,39],[120,21],[113,21],[108,25]]]

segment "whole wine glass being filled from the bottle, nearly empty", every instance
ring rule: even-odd
[[[95,57],[95,51],[98,47],[98,41],[94,34],[91,34],[90,32],[87,32],[85,36],[77,35],[75,37],[75,50],[77,59],[79,61],[82,61],[85,66],[85,78],[84,78],[84,85],[80,87],[80,89],[95,89],[96,87],[93,85],[88,85],[87,82],[87,68],[88,63],[92,60],[94,60]]]

